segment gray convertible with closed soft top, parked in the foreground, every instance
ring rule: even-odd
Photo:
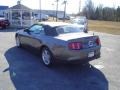
[[[55,61],[89,62],[100,57],[98,36],[84,33],[84,28],[63,22],[41,22],[16,35],[17,47],[27,47],[40,53],[46,66]]]

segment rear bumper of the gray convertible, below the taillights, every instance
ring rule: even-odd
[[[89,57],[88,54],[90,52],[94,52],[94,56]],[[85,49],[85,50],[80,50],[80,51],[76,51],[76,50],[64,50],[63,52],[59,52],[57,53],[57,55],[55,55],[55,60],[60,60],[60,61],[80,61],[80,62],[84,62],[84,61],[91,61],[97,58],[100,58],[100,47],[95,47],[95,48],[91,48],[91,49]]]

